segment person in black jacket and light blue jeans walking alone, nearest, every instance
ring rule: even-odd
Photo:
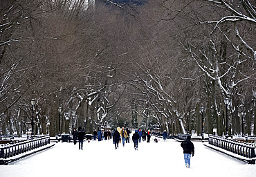
[[[191,154],[194,156],[194,144],[190,141],[191,136],[187,136],[187,140],[181,142],[181,147],[183,148],[185,165],[190,168],[190,158]]]

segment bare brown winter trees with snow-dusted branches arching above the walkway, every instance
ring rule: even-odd
[[[255,6],[2,0],[0,133],[256,134]]]

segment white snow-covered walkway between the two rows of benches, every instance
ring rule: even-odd
[[[0,165],[0,176],[256,176],[256,165],[230,158],[202,142],[193,143],[190,169],[185,168],[181,143],[175,140],[141,142],[138,151],[131,142],[114,149],[112,140],[92,140],[84,142],[84,150],[78,144],[59,142],[23,160]]]

